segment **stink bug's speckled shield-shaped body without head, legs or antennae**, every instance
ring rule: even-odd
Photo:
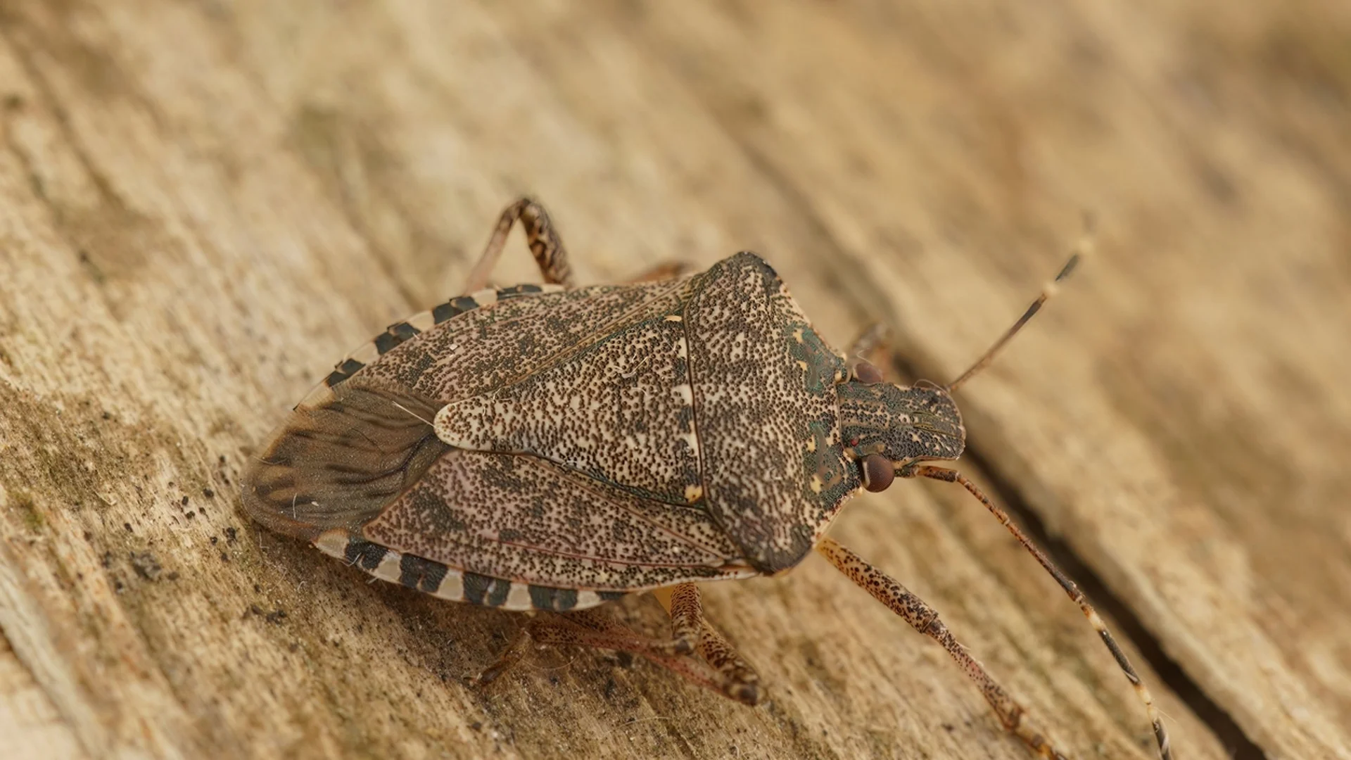
[[[774,573],[861,485],[846,376],[748,253],[661,283],[482,291],[342,362],[245,506],[386,580],[507,609]]]

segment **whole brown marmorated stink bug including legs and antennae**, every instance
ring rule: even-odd
[[[547,284],[481,289],[517,220]],[[543,613],[478,683],[532,640],[632,652],[747,705],[758,676],[704,618],[694,584],[781,573],[816,549],[938,641],[1008,730],[1062,757],[934,609],[825,536],[859,488],[958,483],[1088,615],[1170,757],[1148,690],[1084,594],[975,484],[928,464],[961,456],[952,391],[1054,283],[961,377],[900,387],[865,358],[875,331],[838,354],[755,254],[674,275],[577,287],[544,210],[516,201],[469,295],[392,325],[296,406],[246,475],[245,508],[376,577]],[[670,638],[592,610],[640,591],[667,607]]]

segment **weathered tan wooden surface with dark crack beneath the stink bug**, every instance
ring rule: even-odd
[[[705,588],[771,702],[544,652],[258,530],[238,473],[540,197],[584,281],[769,257],[951,379],[1177,756],[1351,757],[1351,5],[0,1],[0,736],[42,757],[1028,757],[812,557]],[[519,239],[499,280],[534,275]],[[1074,757],[1148,757],[1078,611],[943,484],[832,536]],[[617,614],[662,629],[650,598]],[[1142,656],[1140,649],[1150,656]]]

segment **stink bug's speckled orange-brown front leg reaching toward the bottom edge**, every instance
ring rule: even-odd
[[[942,644],[943,649],[966,671],[967,678],[975,682],[981,694],[985,695],[985,700],[990,703],[994,714],[1000,717],[1004,728],[1021,738],[1042,757],[1065,760],[1065,756],[1056,752],[1040,732],[1029,725],[1023,707],[985,672],[985,668],[971,657],[965,646],[952,638],[947,626],[938,619],[938,613],[925,604],[923,599],[911,594],[896,579],[867,564],[862,557],[850,552],[834,538],[823,538],[816,545],[816,550],[848,576],[850,580],[871,594],[874,599],[890,607],[897,615],[901,615],[915,630]]]

